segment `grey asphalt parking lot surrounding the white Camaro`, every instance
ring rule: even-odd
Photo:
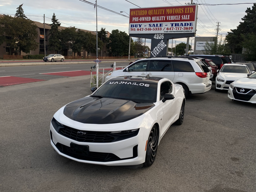
[[[187,98],[183,124],[166,132],[151,167],[58,155],[51,118],[89,95],[89,82],[81,76],[0,88],[0,191],[256,191],[256,105],[231,101],[227,91]]]

